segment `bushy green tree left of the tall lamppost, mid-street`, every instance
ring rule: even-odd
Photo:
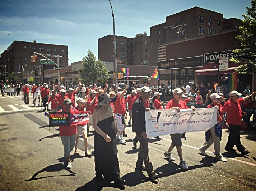
[[[108,70],[101,60],[96,60],[94,53],[88,50],[87,55],[83,57],[80,80],[83,82],[106,82],[109,78]]]

